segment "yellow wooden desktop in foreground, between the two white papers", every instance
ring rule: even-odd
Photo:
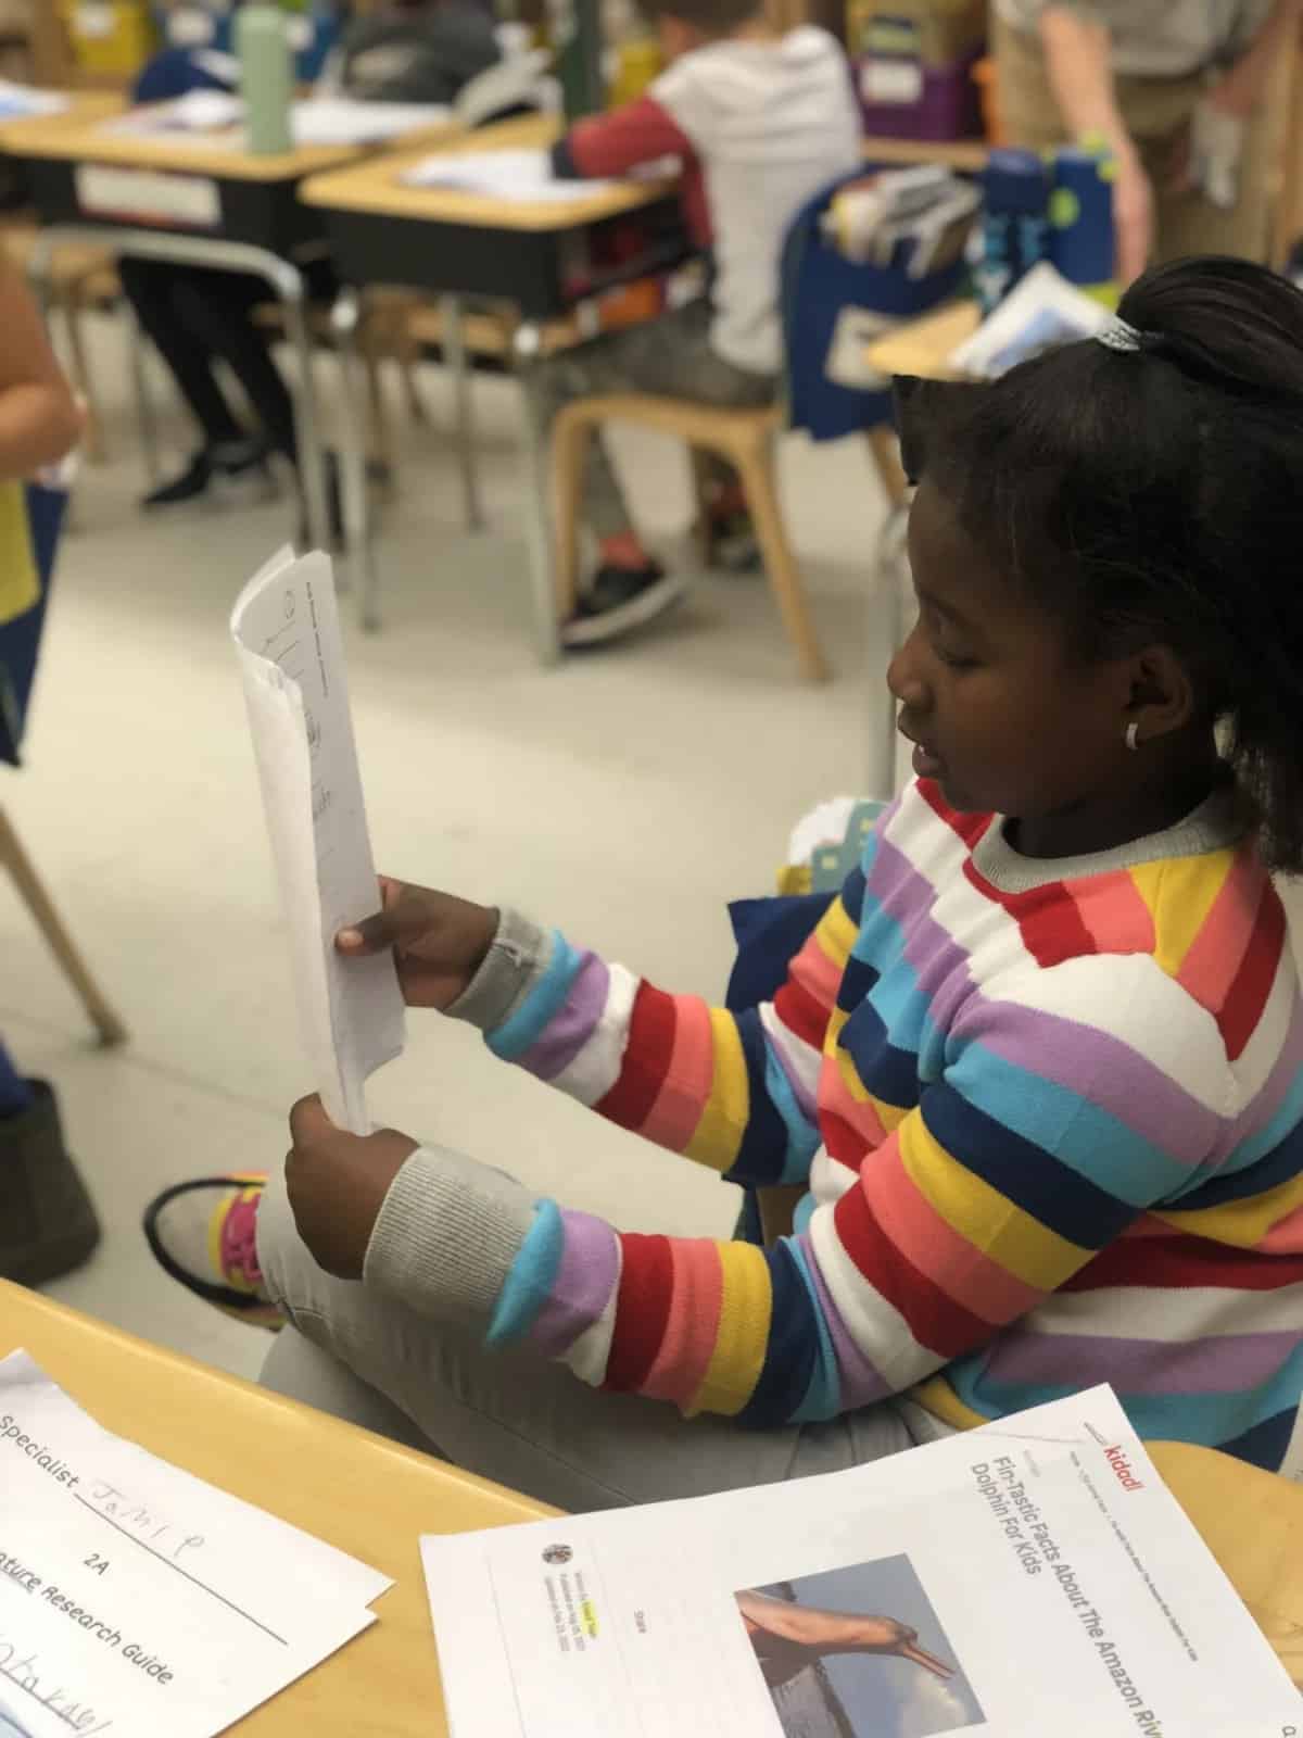
[[[0,1281],[0,1357],[28,1352],[106,1429],[393,1575],[379,1623],[240,1738],[445,1738],[417,1536],[551,1510]]]

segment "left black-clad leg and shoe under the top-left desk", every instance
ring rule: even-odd
[[[184,304],[189,273],[158,259],[120,259],[123,294],[141,328],[167,363],[203,438],[181,476],[146,495],[146,507],[170,507],[208,492],[214,480],[261,480],[262,447],[240,426],[212,372],[214,351]]]

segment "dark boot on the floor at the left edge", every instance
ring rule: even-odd
[[[63,1144],[47,1081],[35,1100],[0,1121],[0,1279],[38,1286],[82,1262],[99,1243],[99,1220]]]

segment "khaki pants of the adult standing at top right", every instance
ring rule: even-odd
[[[1067,129],[1049,89],[1046,57],[1035,35],[1015,30],[1004,19],[995,26],[995,70],[1001,118],[1009,144],[1039,151],[1065,144]],[[1287,92],[1287,56],[1272,82],[1267,101],[1247,125],[1240,160],[1240,193],[1232,210],[1211,205],[1202,193],[1169,193],[1171,165],[1181,136],[1190,125],[1206,80],[1136,78],[1119,75],[1117,106],[1136,141],[1145,172],[1154,184],[1155,261],[1187,254],[1239,254],[1265,261],[1275,167]]]

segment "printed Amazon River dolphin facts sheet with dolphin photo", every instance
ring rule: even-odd
[[[1093,1389],[876,1465],[422,1538],[455,1738],[1298,1738]]]

